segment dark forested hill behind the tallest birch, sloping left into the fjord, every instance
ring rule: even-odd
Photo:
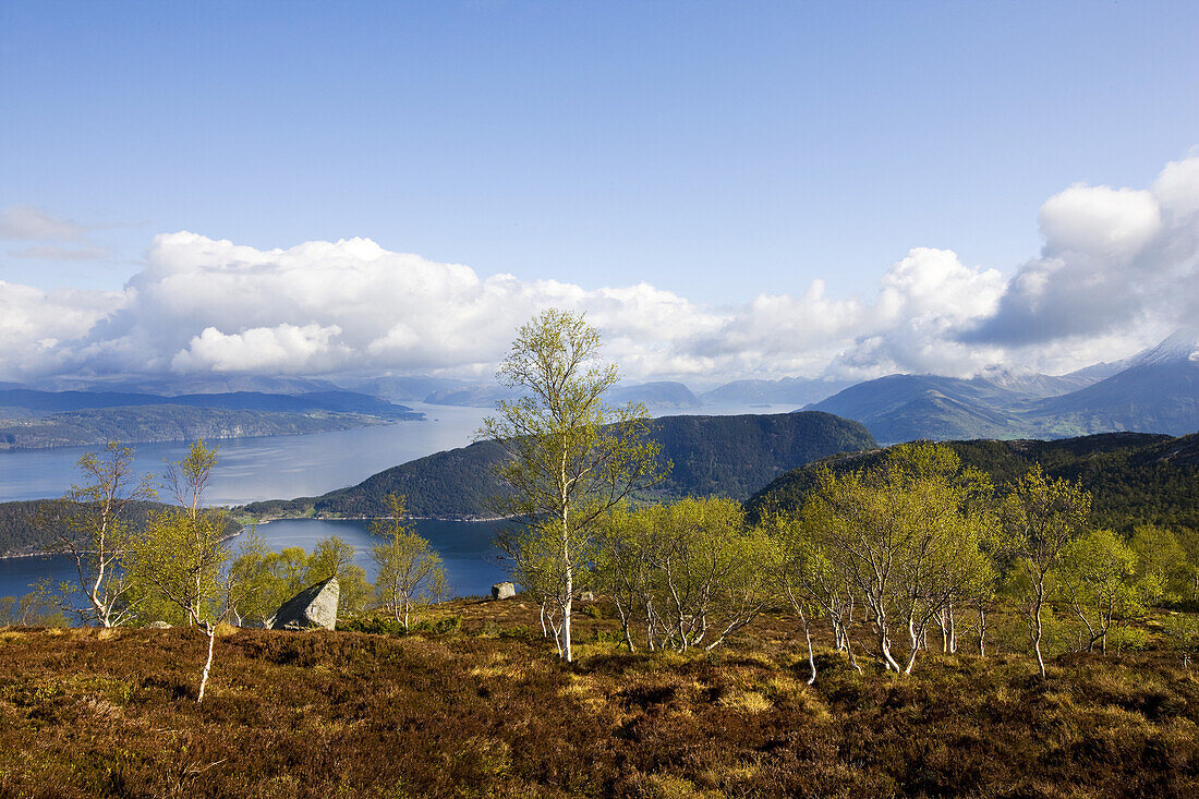
[[[652,422],[651,434],[662,445],[662,459],[673,463],[652,492],[658,498],[743,499],[787,469],[876,446],[862,425],[815,411],[665,416]],[[500,492],[492,467],[501,457],[500,445],[483,441],[393,467],[321,497],[252,503],[245,510],[257,516],[378,516],[384,513],[384,498],[394,492],[408,498],[414,516],[487,516],[488,498]]]

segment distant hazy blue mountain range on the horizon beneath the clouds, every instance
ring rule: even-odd
[[[77,389],[88,390],[70,391],[0,385],[0,446],[92,444],[115,434],[132,441],[317,432],[420,417],[397,404],[404,401],[490,408],[517,396],[495,384],[421,376],[343,379],[341,388],[309,378],[183,380],[80,385]],[[182,394],[185,386],[193,391]],[[212,392],[230,386],[241,388]],[[155,390],[135,390],[149,388]],[[860,421],[885,444],[920,438],[1052,439],[1113,431],[1181,435],[1199,429],[1199,331],[1182,330],[1127,360],[1062,376],[989,370],[969,379],[891,374],[856,384],[830,378],[743,379],[698,394],[682,383],[659,380],[617,384],[607,398],[613,404],[641,402],[651,415],[742,413],[783,404]],[[129,410],[149,407],[159,410]],[[291,415],[267,419],[259,415],[264,413]],[[163,425],[170,429],[156,429]]]

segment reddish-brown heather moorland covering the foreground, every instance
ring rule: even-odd
[[[225,629],[200,705],[197,630],[0,630],[0,795],[1199,795],[1199,681],[1152,641],[1044,681],[1023,654],[906,679],[826,654],[809,687],[783,615],[655,656],[580,614],[567,665],[531,603],[435,613],[460,630]]]

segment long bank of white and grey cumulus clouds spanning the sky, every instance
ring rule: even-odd
[[[0,283],[0,378],[489,378],[516,328],[550,306],[585,311],[638,380],[1060,373],[1199,318],[1199,158],[1167,164],[1149,188],[1071,186],[1044,203],[1040,224],[1041,253],[1011,275],[917,247],[870,296],[830,296],[812,280],[728,307],[649,283],[484,277],[369,239],[259,250],[163,234],[122,293]]]

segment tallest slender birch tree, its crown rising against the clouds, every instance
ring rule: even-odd
[[[500,402],[478,432],[508,455],[496,473],[510,492],[496,507],[513,517],[514,528],[499,537],[501,551],[519,563],[523,545],[554,542],[558,638],[567,661],[576,576],[598,519],[658,474],[644,405],[603,403],[617,372],[601,361],[600,350],[600,332],[583,314],[550,308],[536,316],[517,332],[498,374],[524,396]]]

